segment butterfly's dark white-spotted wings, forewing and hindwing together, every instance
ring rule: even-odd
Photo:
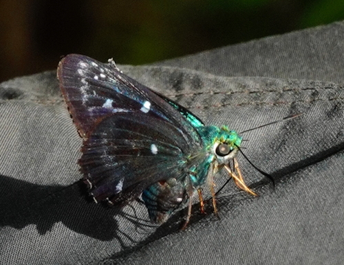
[[[181,192],[188,188],[184,179],[189,167],[206,153],[202,138],[183,115],[186,109],[125,76],[114,64],[87,56],[63,58],[58,80],[85,140],[79,164],[96,200],[126,203],[170,178],[184,185]]]

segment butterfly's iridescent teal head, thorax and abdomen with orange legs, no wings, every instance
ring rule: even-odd
[[[195,122],[195,117],[193,117],[193,122]],[[191,124],[193,124],[193,122],[191,122]],[[196,124],[199,125],[197,122]],[[226,167],[226,170],[230,176],[235,179],[235,183],[238,187],[255,195],[244,184],[241,173],[237,172],[237,175],[235,175],[233,170],[230,170],[228,167],[229,161],[233,159],[233,166],[235,166],[236,170],[239,170],[235,157],[237,150],[241,145],[242,138],[237,135],[234,130],[229,130],[227,126],[219,128],[217,126],[200,125],[197,126],[197,132],[200,134],[202,139],[202,152],[205,152],[206,155],[202,156],[204,159],[200,161],[200,163],[196,163],[197,157],[193,157],[194,154],[189,155],[188,160],[191,161],[191,167],[186,165],[186,168],[189,168],[189,170],[185,172],[186,176],[182,178],[184,183],[183,181],[178,181],[178,179],[173,178],[166,182],[162,181],[155,183],[145,189],[142,193],[142,199],[147,206],[149,216],[153,222],[164,222],[175,209],[189,201],[189,214],[186,217],[186,222],[184,224],[185,227],[187,222],[189,222],[191,214],[191,197],[195,193],[195,190],[197,190],[200,197],[201,211],[204,212],[204,204],[200,188],[205,183],[208,183],[209,188],[211,189],[214,211],[216,213],[217,209],[215,203],[215,191],[213,189],[213,177],[217,171],[223,167]],[[223,150],[219,150],[219,147],[223,148]],[[197,156],[199,154],[195,155]],[[185,187],[191,188],[187,190]],[[166,200],[166,194],[169,194],[169,196],[167,196],[169,200]],[[163,199],[161,200],[160,198]]]

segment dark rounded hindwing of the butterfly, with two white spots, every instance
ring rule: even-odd
[[[186,176],[187,158],[178,148],[187,146],[184,141],[178,128],[161,119],[140,112],[112,115],[85,141],[79,164],[96,200],[124,203],[157,181]]]

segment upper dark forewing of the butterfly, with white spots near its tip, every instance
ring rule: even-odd
[[[114,65],[70,54],[59,64],[58,80],[76,127],[84,138],[107,115],[141,110],[175,124],[185,132],[185,137],[197,141],[195,130],[178,111],[173,111],[173,106]]]

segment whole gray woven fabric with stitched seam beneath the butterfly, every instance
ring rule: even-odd
[[[55,71],[0,84],[0,263],[342,264],[343,33],[334,23],[120,67],[206,124],[240,132],[303,113],[243,135],[244,152],[277,179],[275,190],[239,154],[260,196],[230,183],[217,199],[220,219],[195,205],[186,231],[185,211],[158,227],[140,203],[108,209],[85,198],[82,141]],[[217,187],[225,180],[219,174]]]

